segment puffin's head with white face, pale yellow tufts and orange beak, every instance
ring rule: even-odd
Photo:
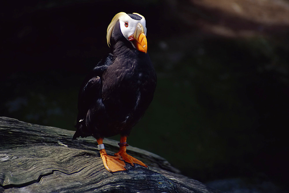
[[[145,27],[144,16],[138,13],[126,14],[125,12],[116,14],[108,25],[106,34],[108,46],[110,46],[113,29],[118,23],[122,36],[130,41],[135,49],[147,53],[147,28]]]

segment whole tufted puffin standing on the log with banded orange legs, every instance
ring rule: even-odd
[[[147,28],[138,13],[116,14],[107,29],[110,53],[85,78],[78,95],[77,137],[93,136],[105,168],[126,170],[124,161],[147,167],[126,153],[126,140],[153,99],[156,73],[147,54]],[[103,138],[121,135],[119,151],[107,155]]]

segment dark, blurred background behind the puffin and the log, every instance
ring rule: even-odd
[[[1,4],[0,116],[75,130],[81,82],[109,52],[108,24],[137,12],[158,83],[128,143],[202,182],[287,185],[288,1]]]

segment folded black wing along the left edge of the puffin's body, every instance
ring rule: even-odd
[[[77,137],[88,137],[92,131],[87,128],[91,113],[104,110],[101,98],[102,74],[112,64],[112,54],[101,60],[90,74],[84,79],[78,94],[78,115],[76,132],[73,139]],[[94,111],[94,112],[91,112]]]

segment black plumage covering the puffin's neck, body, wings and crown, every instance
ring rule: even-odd
[[[149,55],[123,36],[119,21],[110,43],[111,53],[95,66],[79,91],[73,139],[129,135],[153,99],[156,73]]]

